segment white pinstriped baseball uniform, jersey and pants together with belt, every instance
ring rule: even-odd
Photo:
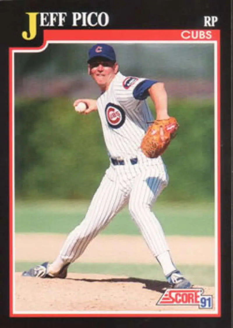
[[[162,227],[151,211],[152,203],[168,183],[166,168],[161,157],[147,158],[140,150],[148,121],[153,120],[145,101],[145,90],[153,83],[156,81],[118,72],[98,98],[110,166],[83,221],[68,235],[61,249],[63,263],[81,256],[89,242],[127,203],[152,254],[156,257],[169,250]]]

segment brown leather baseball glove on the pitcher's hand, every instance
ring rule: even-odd
[[[153,121],[142,139],[142,152],[150,158],[163,154],[171,139],[175,137],[178,127],[174,117]]]

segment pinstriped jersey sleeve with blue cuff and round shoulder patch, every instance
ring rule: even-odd
[[[115,85],[116,99],[123,106],[136,105],[138,101],[148,97],[148,89],[154,83],[157,81],[134,76],[124,77],[123,81],[118,81]]]

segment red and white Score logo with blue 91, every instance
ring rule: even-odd
[[[202,288],[167,289],[157,305],[198,305],[199,309],[212,309],[212,295],[202,294]]]

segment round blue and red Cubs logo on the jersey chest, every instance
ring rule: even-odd
[[[105,107],[105,116],[108,125],[113,129],[120,128],[125,122],[124,110],[113,103],[108,103]]]

